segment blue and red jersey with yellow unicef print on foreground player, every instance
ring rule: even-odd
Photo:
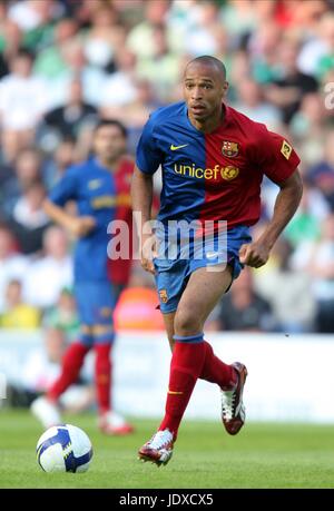
[[[232,107],[210,134],[196,129],[184,101],[151,114],[137,147],[137,167],[163,169],[158,219],[226,220],[250,226],[261,214],[263,176],[279,184],[299,164],[291,144]]]

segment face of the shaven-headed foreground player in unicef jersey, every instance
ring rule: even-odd
[[[184,78],[184,95],[189,117],[198,122],[220,112],[228,83],[213,66],[189,65]]]

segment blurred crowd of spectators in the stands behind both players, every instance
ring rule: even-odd
[[[0,327],[43,326],[50,346],[57,332],[76,336],[73,239],[43,198],[87,158],[99,118],[125,124],[134,156],[149,112],[181,99],[199,55],[226,65],[230,106],[294,145],[305,185],[268,264],[243,272],[207,328],[334,332],[331,0],[0,0]],[[255,237],[277,191],[264,180]],[[156,305],[135,264],[117,328],[163,328]]]

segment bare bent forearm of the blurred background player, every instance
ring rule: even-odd
[[[45,200],[43,209],[53,222],[77,237],[87,236],[96,225],[92,216],[71,216],[49,199]]]

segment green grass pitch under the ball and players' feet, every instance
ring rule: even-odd
[[[36,461],[41,428],[28,411],[0,410],[0,488],[334,488],[333,425],[247,423],[237,436],[223,425],[185,420],[167,466],[137,460],[157,421],[134,420],[136,433],[110,438],[92,414],[66,416],[94,445],[84,474],[47,474]]]

